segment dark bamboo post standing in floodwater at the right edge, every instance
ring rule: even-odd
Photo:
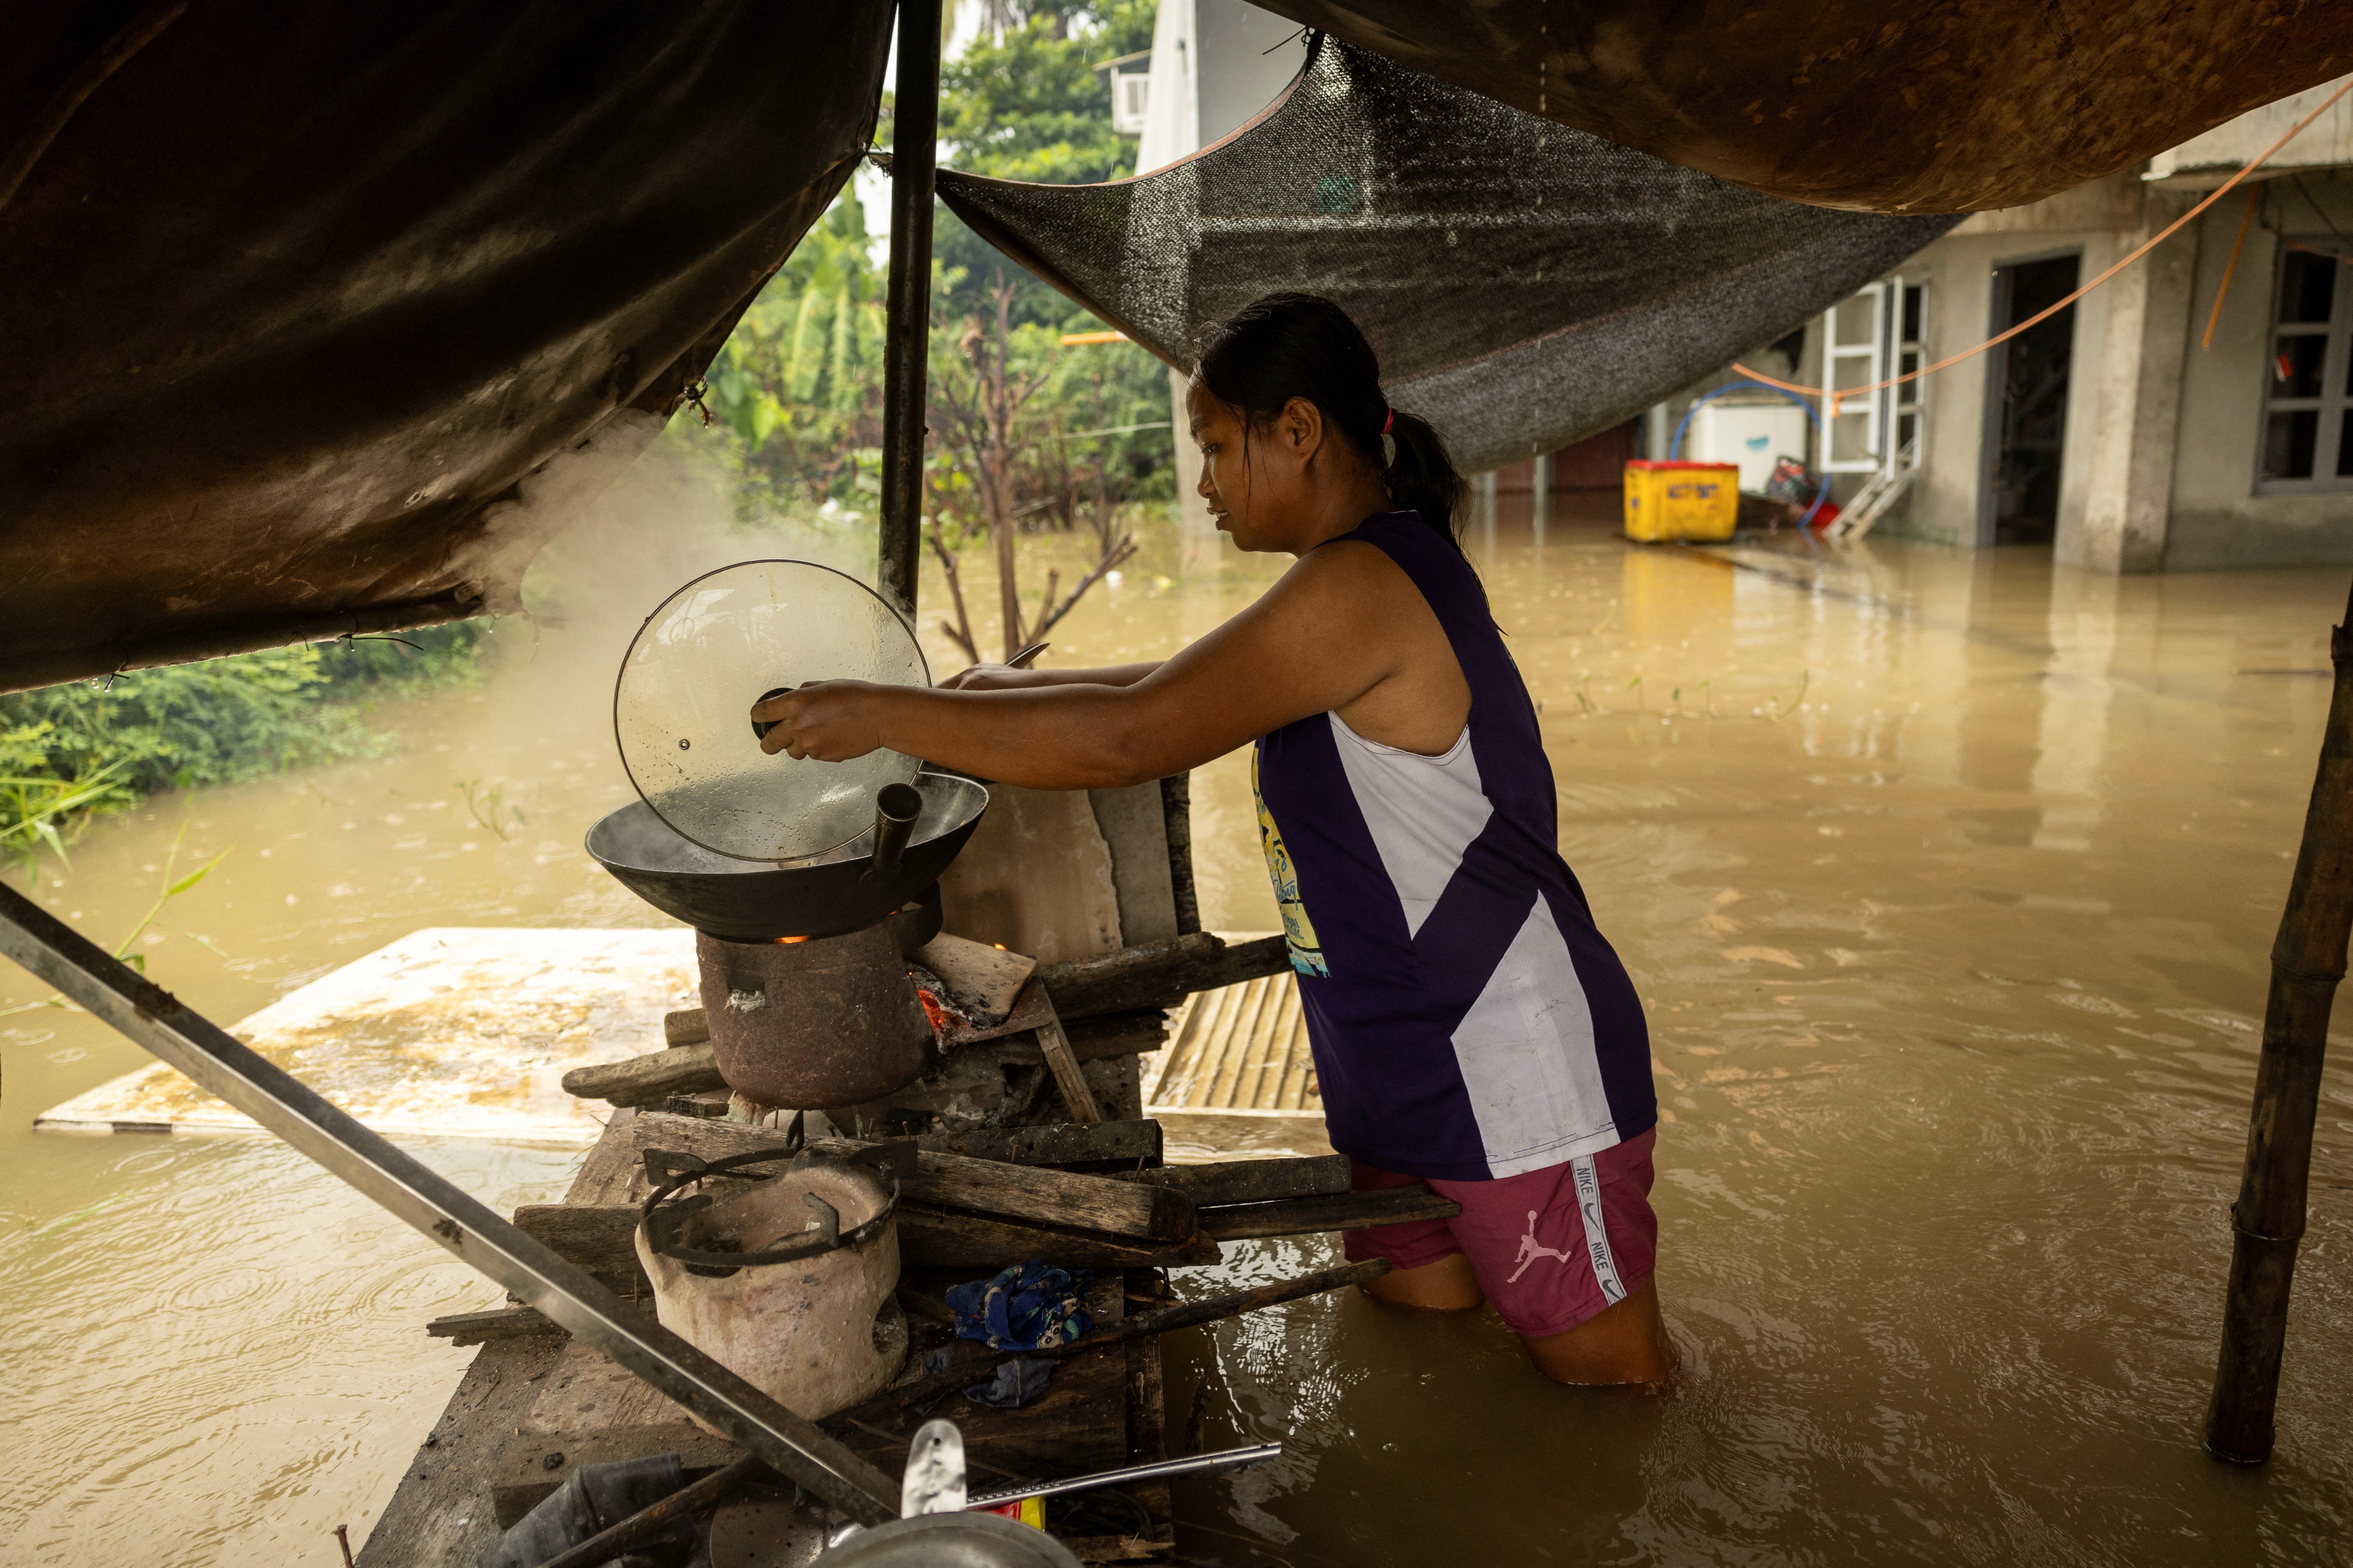
[[[2353,625],[2353,602],[2346,604],[2346,625]],[[2329,635],[2337,691],[2320,736],[2313,802],[2304,813],[2304,849],[2287,884],[2280,936],[2271,945],[2247,1171],[2231,1206],[2231,1286],[2205,1446],[2238,1465],[2271,1458],[2280,1354],[2287,1347],[2287,1286],[2297,1274],[2304,1190],[2313,1171],[2320,1060],[2329,1044],[2329,1004],[2346,973],[2346,936],[2353,933],[2353,639],[2346,625]]]

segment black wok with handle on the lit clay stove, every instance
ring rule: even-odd
[[[642,799],[591,827],[588,853],[664,914],[729,943],[842,936],[922,896],[988,809],[988,790],[955,773],[918,773],[915,792],[922,811],[889,870],[875,867],[873,832],[795,865],[734,860],[678,837]]]

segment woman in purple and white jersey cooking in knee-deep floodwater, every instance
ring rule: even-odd
[[[1555,849],[1553,769],[1452,534],[1461,477],[1381,395],[1348,315],[1271,294],[1205,336],[1200,494],[1299,557],[1165,663],[816,682],[769,752],[878,745],[1038,790],[1129,785],[1257,741],[1259,837],[1337,1150],[1452,1220],[1348,1232],[1407,1307],[1492,1300],[1562,1382],[1666,1378],[1642,1006]],[[1384,461],[1384,437],[1395,456]]]

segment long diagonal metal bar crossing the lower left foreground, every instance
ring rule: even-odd
[[[852,1519],[899,1516],[889,1476],[751,1387],[668,1328],[633,1312],[447,1178],[367,1131],[301,1079],[106,954],[16,889],[0,884],[0,954],[24,964],[94,1018],[127,1034],[240,1112],[327,1166],[452,1258],[506,1286],[551,1321],[687,1406],[776,1474]]]

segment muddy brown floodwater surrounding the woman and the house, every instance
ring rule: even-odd
[[[482,686],[376,715],[395,750],[104,820],[40,898],[118,940],[176,835],[181,865],[226,849],[146,945],[224,1023],[416,926],[661,924],[579,849],[628,799],[628,632],[727,559],[864,567],[866,529],[732,529],[656,465],[558,545]],[[1635,550],[1558,512],[1541,541],[1473,529],[1473,557],[1544,703],[1562,849],[1649,1009],[1685,1371],[1661,1396],[1560,1389],[1492,1314],[1360,1298],[1176,1335],[1172,1441],[1287,1443],[1179,1486],[1184,1552],[2353,1561],[2344,1063],[2278,1455],[2226,1469],[2195,1441],[2346,574]],[[1174,651],[1280,564],[1158,524],[1047,658]],[[993,602],[984,562],[965,590]],[[927,628],[941,609],[934,569]],[[1207,922],[1271,929],[1240,762],[1195,802]],[[38,999],[0,973],[0,1006]],[[334,1563],[327,1530],[365,1535],[471,1356],[424,1319],[496,1291],[266,1138],[28,1131],[139,1065],[80,1013],[0,1018],[0,1563]],[[579,1159],[409,1147],[494,1206]],[[1245,1244],[1179,1288],[1332,1251]]]

